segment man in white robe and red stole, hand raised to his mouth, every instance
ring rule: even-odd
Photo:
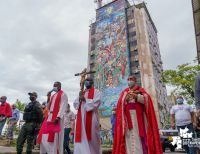
[[[56,93],[51,96],[51,92]],[[64,141],[64,114],[68,104],[67,95],[61,90],[61,83],[55,82],[53,90],[48,93],[50,97],[48,102],[49,113],[44,120],[38,137],[40,144],[40,154],[63,154]],[[60,125],[60,132],[46,134],[43,131],[45,124],[53,122]]]

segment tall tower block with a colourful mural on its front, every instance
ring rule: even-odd
[[[165,124],[167,91],[161,80],[162,60],[157,30],[145,3],[115,0],[96,10],[90,25],[88,67],[96,70],[96,88],[102,91],[101,114],[106,117],[133,74],[154,102],[159,126]]]

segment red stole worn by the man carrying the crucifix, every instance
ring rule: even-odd
[[[94,87],[90,88],[88,91],[88,99],[93,99],[93,98],[94,98]],[[77,113],[75,142],[81,142],[81,135],[82,135],[81,134],[81,131],[82,131],[81,105],[82,105],[82,102],[80,102],[80,106]],[[92,139],[92,112],[93,111],[86,112],[85,130],[86,130],[88,141]]]

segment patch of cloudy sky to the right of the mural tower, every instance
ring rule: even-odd
[[[158,29],[159,45],[165,69],[196,58],[196,42],[191,1],[146,0]]]

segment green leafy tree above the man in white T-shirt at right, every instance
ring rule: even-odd
[[[174,87],[174,94],[183,96],[188,104],[194,102],[194,82],[200,73],[200,65],[186,63],[179,65],[176,70],[166,70],[163,72],[163,82]]]

